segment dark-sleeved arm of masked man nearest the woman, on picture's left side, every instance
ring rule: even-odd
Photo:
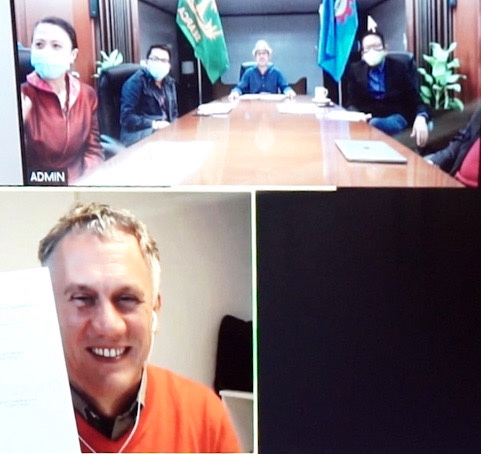
[[[135,73],[124,83],[120,94],[120,124],[127,131],[139,131],[153,126],[151,118],[137,113],[141,94],[142,82]]]

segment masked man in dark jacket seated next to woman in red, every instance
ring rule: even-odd
[[[170,72],[170,48],[153,44],[147,63],[129,77],[120,97],[120,140],[131,145],[165,128],[179,116],[175,81]]]

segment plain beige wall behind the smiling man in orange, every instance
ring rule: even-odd
[[[221,318],[252,319],[250,194],[2,190],[0,271],[38,267],[38,241],[75,201],[127,208],[148,225],[162,265],[151,361],[212,386]]]

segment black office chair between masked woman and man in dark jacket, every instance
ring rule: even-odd
[[[125,149],[120,142],[120,93],[124,82],[141,67],[122,63],[100,73],[97,84],[100,142],[108,157]]]

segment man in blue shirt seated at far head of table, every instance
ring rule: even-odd
[[[283,93],[288,98],[296,96],[296,92],[286,82],[279,69],[270,63],[272,49],[267,41],[263,39],[257,41],[252,55],[257,65],[246,69],[240,82],[229,94],[231,101],[244,93]]]

